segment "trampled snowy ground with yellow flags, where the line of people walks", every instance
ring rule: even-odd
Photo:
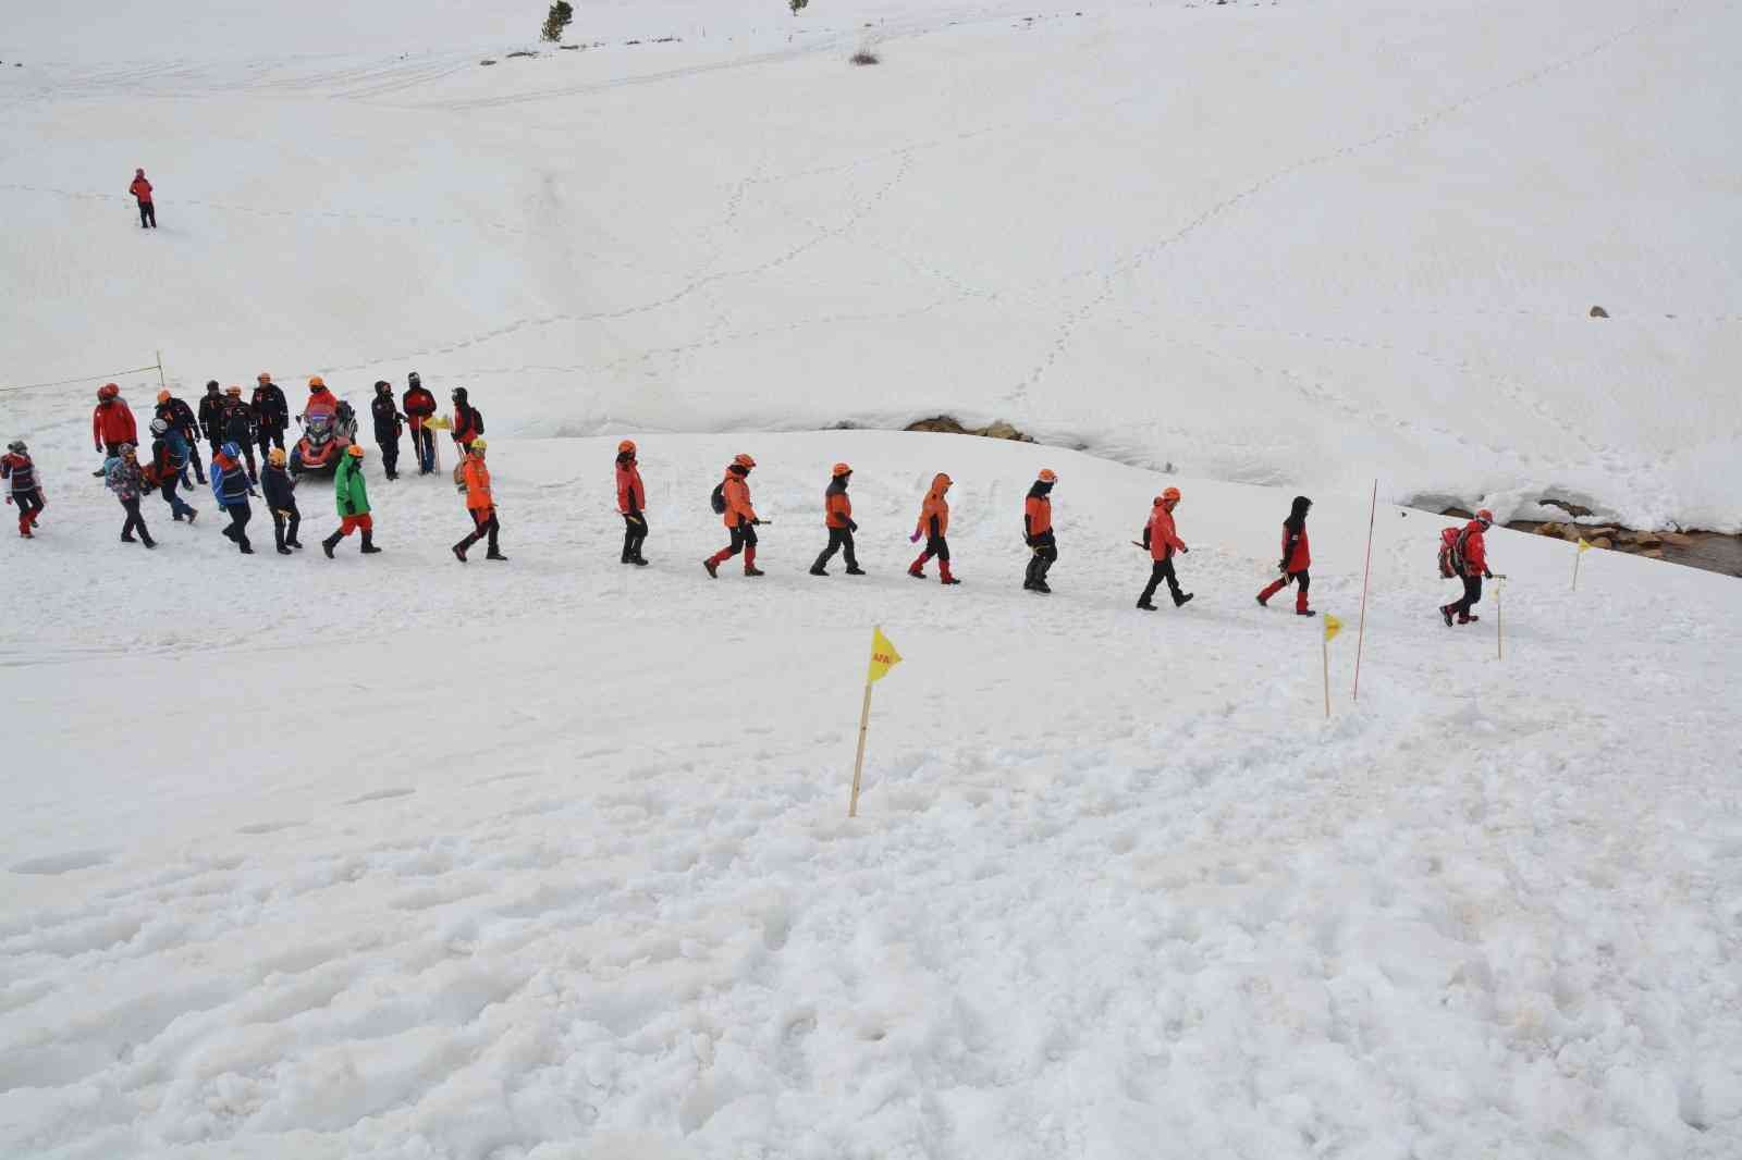
[[[380,542],[115,543],[51,475],[7,545],[7,1157],[1733,1157],[1735,582],[1319,495],[948,435],[496,441],[509,564],[371,465]],[[733,451],[768,577],[699,559]],[[805,575],[827,465],[871,575]],[[1019,500],[1061,474],[1056,594]],[[925,481],[958,571],[902,575]],[[1185,610],[1127,545],[1185,489]],[[204,505],[204,503],[202,503]],[[204,505],[209,510],[209,505]],[[333,516],[305,484],[314,545]],[[862,815],[847,820],[873,624]]]

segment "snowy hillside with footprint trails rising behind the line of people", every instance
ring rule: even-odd
[[[523,435],[953,411],[1742,528],[1737,5],[625,0],[502,59],[537,9],[0,5],[9,381],[416,364]]]

